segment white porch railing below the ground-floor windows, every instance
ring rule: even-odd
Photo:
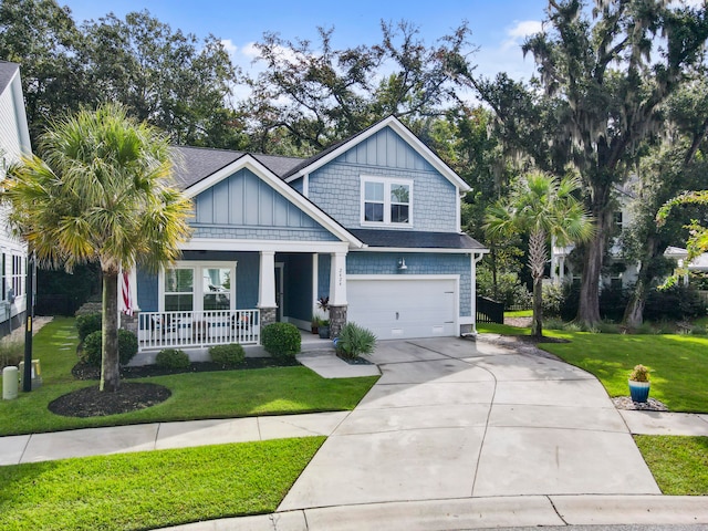
[[[207,347],[240,343],[258,345],[260,311],[140,312],[138,350]]]

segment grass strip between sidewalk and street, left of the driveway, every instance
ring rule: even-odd
[[[138,530],[270,513],[324,439],[0,467],[0,529]]]

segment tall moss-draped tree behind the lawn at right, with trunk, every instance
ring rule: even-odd
[[[594,324],[615,186],[658,131],[663,104],[701,63],[708,18],[706,7],[662,0],[596,0],[592,9],[584,0],[549,0],[543,28],[523,45],[542,93],[503,74],[471,82],[502,138],[541,168],[580,171],[600,230],[584,253],[579,319]]]

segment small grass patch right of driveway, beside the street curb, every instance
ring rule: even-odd
[[[664,494],[708,496],[708,437],[636,435]]]

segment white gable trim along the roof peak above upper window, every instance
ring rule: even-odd
[[[304,160],[284,176],[285,183],[291,183],[300,177],[311,174],[386,127],[391,127],[396,132],[410,147],[425,158],[430,166],[437,169],[452,185],[459,188],[460,191],[469,191],[471,189],[467,183],[465,183],[447,164],[442,162],[440,157],[433,152],[433,149],[426,146],[420,138],[414,135],[410,129],[395,116],[388,116],[361,133],[357,133],[356,135],[329,147],[314,157]]]

